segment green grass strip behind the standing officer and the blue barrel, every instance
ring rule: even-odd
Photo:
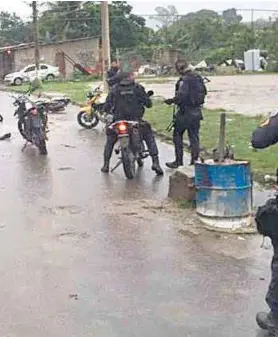
[[[207,150],[213,149],[218,143],[219,110],[204,110],[204,121],[201,126],[201,146]],[[159,132],[171,135],[165,131],[172,118],[172,108],[164,104],[154,104],[146,111],[146,119]],[[251,148],[250,138],[254,129],[263,118],[247,117],[240,114],[227,114],[226,139],[227,145],[233,148],[236,159],[251,162],[254,178],[262,181],[265,174],[275,175],[278,158],[278,147],[272,146],[262,151]],[[185,135],[186,139],[186,135]]]

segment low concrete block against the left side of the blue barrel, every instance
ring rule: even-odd
[[[194,167],[178,168],[170,176],[168,197],[186,202],[195,200]]]

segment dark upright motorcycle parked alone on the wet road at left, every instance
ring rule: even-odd
[[[18,117],[17,127],[21,136],[26,140],[22,151],[28,143],[31,143],[40,151],[41,155],[47,155],[47,111],[44,104],[35,104],[27,95],[13,96],[16,110],[14,116]]]

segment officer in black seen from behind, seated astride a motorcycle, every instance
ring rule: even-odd
[[[152,101],[147,95],[143,86],[135,83],[133,73],[121,74],[121,81],[115,84],[110,91],[104,106],[104,111],[113,114],[113,120],[142,120],[145,107],[150,108]],[[159,164],[158,148],[154,138],[152,128],[149,123],[142,121],[140,124],[140,134],[146,142],[149,154],[152,157],[152,170],[157,175],[163,175],[163,170]],[[107,140],[104,149],[104,165],[102,172],[109,172],[110,158],[114,145],[117,141],[117,134],[107,128]]]

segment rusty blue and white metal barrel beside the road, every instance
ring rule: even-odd
[[[252,176],[246,161],[195,165],[196,210],[209,227],[235,230],[250,227]]]

